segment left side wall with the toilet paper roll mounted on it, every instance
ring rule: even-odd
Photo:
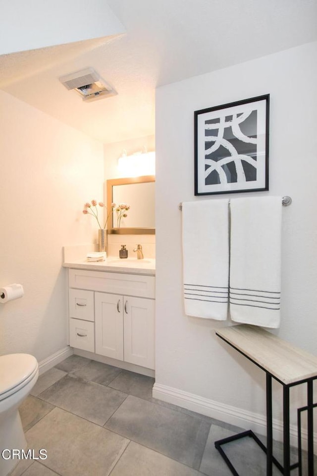
[[[86,201],[103,197],[103,145],[0,91],[0,355],[39,361],[67,344],[62,246],[97,240]]]

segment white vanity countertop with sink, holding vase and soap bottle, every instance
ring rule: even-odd
[[[63,263],[65,268],[89,269],[92,271],[110,271],[116,273],[145,274],[155,276],[155,259],[123,258],[108,256],[105,261],[90,262],[84,259],[72,259]]]

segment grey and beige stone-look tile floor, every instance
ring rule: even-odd
[[[241,429],[152,398],[153,383],[79,356],[48,370],[20,407],[28,447],[48,457],[11,476],[231,476],[213,443]],[[265,476],[253,440],[226,450],[241,476]]]

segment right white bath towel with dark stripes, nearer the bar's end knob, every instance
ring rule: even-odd
[[[279,327],[282,198],[233,199],[230,209],[231,319]]]

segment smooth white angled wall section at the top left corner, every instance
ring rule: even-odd
[[[0,55],[124,31],[104,0],[11,0],[1,8]]]

